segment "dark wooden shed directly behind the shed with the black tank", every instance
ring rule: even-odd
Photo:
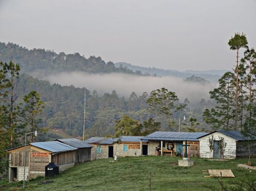
[[[91,149],[93,146],[89,143],[78,140],[77,138],[56,139],[55,141],[78,148],[78,150],[75,150],[75,164],[91,160]]]

